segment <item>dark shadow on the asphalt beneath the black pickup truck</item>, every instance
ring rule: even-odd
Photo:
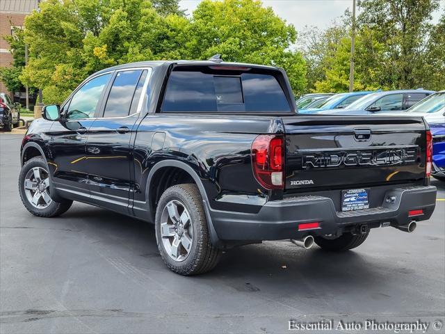
[[[127,260],[140,269],[156,269],[172,280],[182,279],[164,266],[152,224],[86,205],[74,207],[60,221],[94,239],[102,248],[110,247],[115,255],[126,254]],[[273,290],[273,285],[278,284],[280,291],[302,289],[309,293],[317,285],[329,284],[329,289],[341,290],[378,284],[387,271],[394,270],[394,264],[388,268],[385,264],[379,266],[382,270],[370,267],[366,254],[355,250],[329,253],[317,246],[305,250],[289,241],[266,241],[225,251],[216,269],[193,279],[223,280],[225,285],[246,292],[265,285]]]

